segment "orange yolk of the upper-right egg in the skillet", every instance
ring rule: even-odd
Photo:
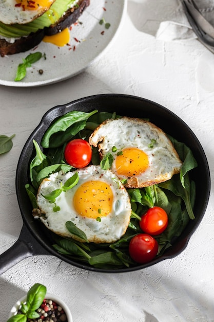
[[[138,148],[126,148],[116,156],[115,166],[119,175],[139,175],[149,166],[148,155]]]

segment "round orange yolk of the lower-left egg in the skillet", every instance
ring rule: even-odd
[[[105,217],[111,212],[113,193],[111,187],[102,181],[88,181],[82,184],[73,198],[74,208],[83,217]]]

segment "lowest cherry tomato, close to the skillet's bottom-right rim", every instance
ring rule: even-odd
[[[150,235],[138,234],[129,243],[129,255],[137,263],[148,263],[157,253],[158,242]]]

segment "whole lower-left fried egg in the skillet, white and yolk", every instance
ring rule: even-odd
[[[75,172],[79,182],[71,189],[56,198],[55,204],[60,207],[54,212],[54,204],[44,198],[55,189],[59,189]],[[72,237],[66,228],[71,221],[85,232],[89,242],[112,243],[126,232],[130,221],[131,204],[128,192],[118,177],[100,166],[88,166],[73,172],[52,173],[44,179],[38,189],[37,205],[41,210],[41,221],[53,232],[63,237]]]

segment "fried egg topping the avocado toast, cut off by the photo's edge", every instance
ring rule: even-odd
[[[4,24],[26,24],[46,12],[55,0],[0,1],[0,21]]]

